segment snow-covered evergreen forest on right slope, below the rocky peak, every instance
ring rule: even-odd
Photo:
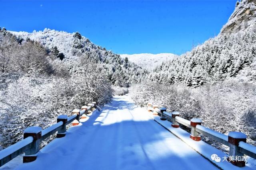
[[[247,80],[244,81],[253,82],[256,78],[253,67],[255,57],[256,28],[224,33],[195,47],[191,52],[162,63],[148,78],[158,83],[183,83],[192,87],[237,76],[245,76]]]

